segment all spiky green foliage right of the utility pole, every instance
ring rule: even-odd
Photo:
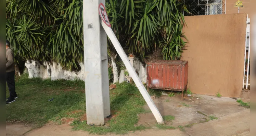
[[[162,48],[165,60],[180,59],[182,49],[186,44],[182,33],[185,23],[182,1],[115,0],[114,2],[120,3],[119,8],[115,6],[119,12],[115,13],[118,11],[116,10],[110,13],[113,14],[111,16],[114,20],[118,18],[120,20],[117,24],[112,24],[112,29],[119,30],[116,36],[124,36],[119,40],[125,40],[125,47],[128,47],[129,52],[144,57],[145,53]],[[116,28],[117,26],[119,29]]]

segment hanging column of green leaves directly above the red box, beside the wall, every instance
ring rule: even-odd
[[[161,34],[164,40],[162,54],[165,60],[179,60],[186,43],[183,37],[187,39],[182,33],[185,20],[179,10],[183,9],[183,5],[177,3],[177,0],[158,2],[158,19],[162,23]]]

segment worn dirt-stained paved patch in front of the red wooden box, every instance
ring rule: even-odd
[[[180,96],[162,96],[153,101],[162,116],[171,115],[175,117],[175,120],[172,122],[173,126],[199,123],[207,116],[220,118],[246,109],[238,106],[239,103],[235,99],[206,95],[192,95],[189,97],[185,95],[183,101],[180,99]],[[145,105],[145,109],[150,111],[148,105]],[[143,124],[152,127],[156,123],[151,112],[140,114],[139,116],[140,121],[138,125]]]

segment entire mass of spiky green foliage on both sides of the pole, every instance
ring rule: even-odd
[[[179,0],[106,0],[123,47],[141,57],[162,48],[166,60],[179,60],[186,43],[183,7]],[[84,56],[82,0],[7,0],[6,13],[6,37],[16,57],[79,68]],[[109,40],[108,49],[115,56]]]

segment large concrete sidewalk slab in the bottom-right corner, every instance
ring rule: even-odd
[[[249,136],[250,109],[193,125],[185,129],[190,136]]]

